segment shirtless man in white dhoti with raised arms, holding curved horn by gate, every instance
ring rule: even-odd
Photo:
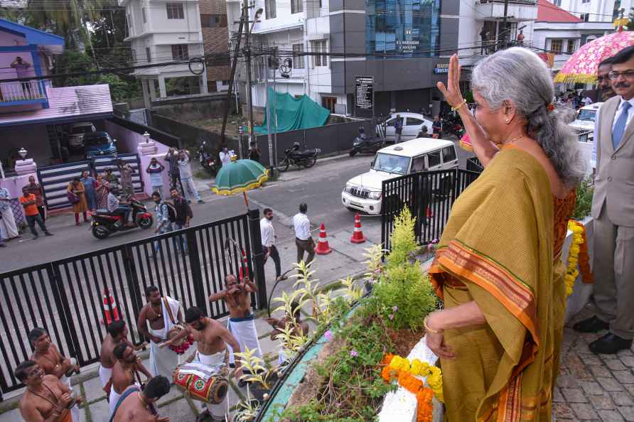
[[[211,303],[224,300],[229,308],[229,323],[227,328],[240,344],[240,350],[255,350],[255,356],[262,359],[262,349],[257,339],[255,320],[251,312],[251,293],[257,292],[256,284],[244,278],[243,283],[239,283],[233,274],[225,277],[226,288],[219,293],[209,296]],[[233,350],[229,348],[229,363],[233,365],[235,359]]]

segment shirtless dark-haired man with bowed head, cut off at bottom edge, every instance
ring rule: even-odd
[[[155,404],[168,394],[169,388],[169,380],[161,375],[152,378],[143,391],[138,386],[129,386],[109,422],[169,422],[169,416],[156,413]]]

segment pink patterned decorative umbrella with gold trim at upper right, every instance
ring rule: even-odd
[[[634,32],[623,31],[619,25],[615,33],[592,40],[571,55],[554,82],[595,82],[598,64],[630,45],[634,45]]]

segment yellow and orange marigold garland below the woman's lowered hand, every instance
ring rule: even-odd
[[[381,377],[385,382],[397,380],[400,386],[416,396],[417,422],[431,422],[434,410],[431,399],[435,395],[436,399],[444,401],[440,368],[419,359],[414,359],[412,364],[409,364],[409,359],[391,353],[383,357],[381,364],[385,365],[381,371]],[[429,387],[426,387],[417,376],[426,377]]]

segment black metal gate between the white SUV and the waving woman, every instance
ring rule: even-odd
[[[384,180],[381,195],[381,242],[385,249],[392,247],[389,237],[394,228],[394,217],[406,206],[416,219],[414,234],[419,244],[429,244],[440,239],[453,202],[478,175],[480,173],[456,168]]]

